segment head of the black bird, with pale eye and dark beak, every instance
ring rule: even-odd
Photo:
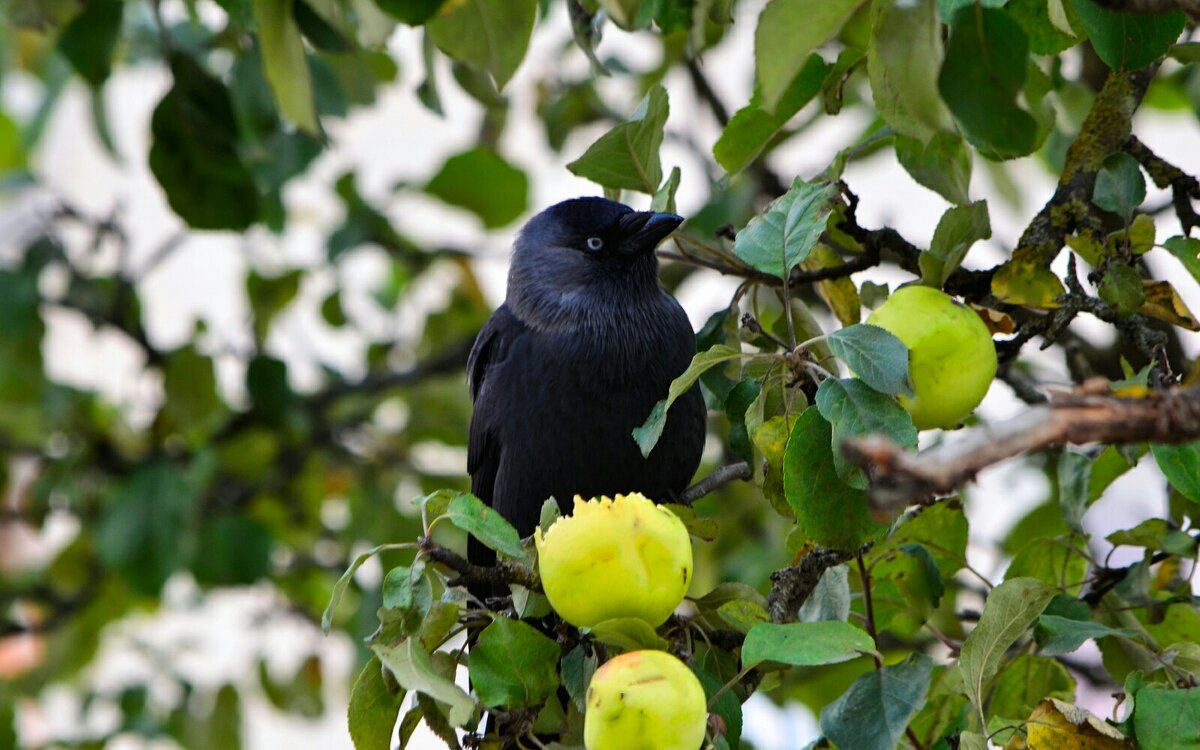
[[[658,294],[654,248],[683,217],[605,198],[557,203],[526,223],[514,246],[509,304],[527,319],[564,308]]]

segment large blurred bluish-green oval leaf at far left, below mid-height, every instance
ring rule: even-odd
[[[157,594],[184,560],[180,539],[196,508],[182,472],[166,461],[138,468],[100,516],[101,562],[119,570],[140,594]]]

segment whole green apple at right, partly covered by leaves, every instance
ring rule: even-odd
[[[916,396],[900,396],[918,430],[955,427],[988,394],[996,347],[979,316],[931,287],[902,287],[866,319],[908,347]]]

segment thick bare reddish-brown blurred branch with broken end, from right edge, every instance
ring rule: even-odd
[[[1003,422],[977,427],[960,440],[922,454],[908,452],[881,436],[845,440],[841,451],[866,469],[871,500],[881,508],[896,508],[953,492],[989,466],[1044,448],[1067,443],[1184,443],[1196,438],[1200,388],[1145,398],[1096,395],[1087,389]]]

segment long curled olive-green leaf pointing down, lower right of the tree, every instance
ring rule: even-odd
[[[1010,578],[988,594],[979,624],[967,634],[959,655],[964,690],[980,718],[984,685],[996,673],[1008,647],[1025,634],[1054,594],[1036,578]]]

